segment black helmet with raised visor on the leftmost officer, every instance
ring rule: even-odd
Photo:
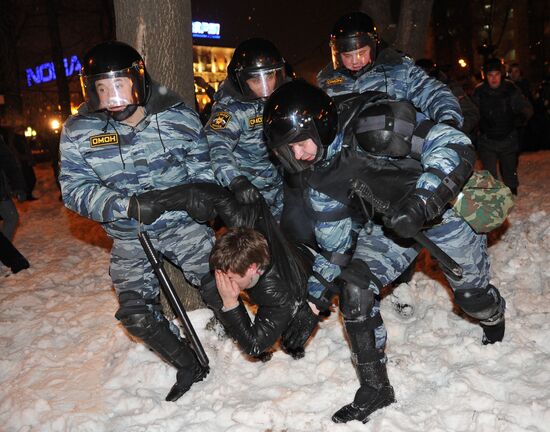
[[[130,80],[131,89],[120,91],[116,78]],[[106,80],[98,86],[96,83]],[[122,42],[103,42],[90,49],[83,58],[80,74],[82,94],[90,111],[109,110],[125,106],[123,111],[113,111],[116,120],[124,120],[132,115],[138,105],[145,105],[150,93],[151,79],[145,70],[141,55],[130,45]],[[99,91],[109,91],[108,97],[100,100]]]

